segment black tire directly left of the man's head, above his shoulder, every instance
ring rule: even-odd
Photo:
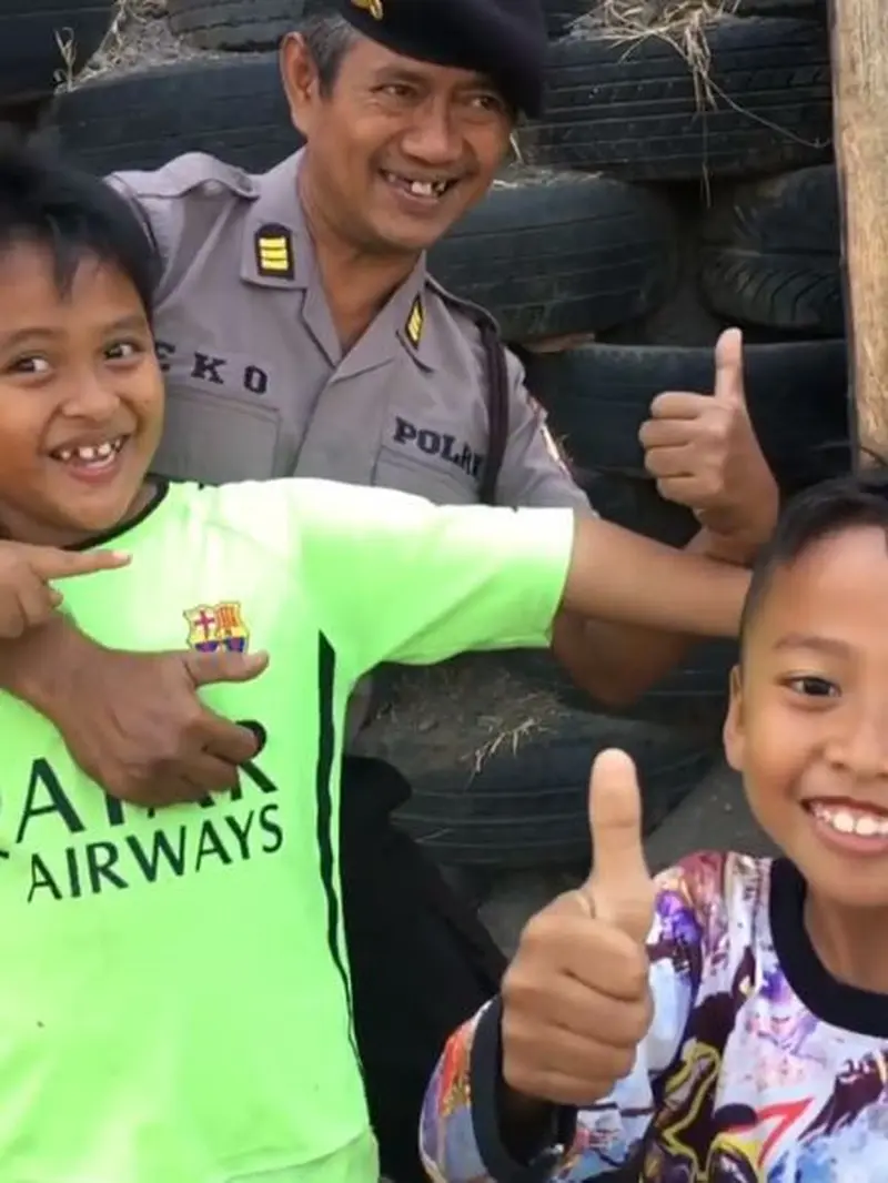
[[[98,78],[60,95],[60,140],[96,173],[159,168],[205,151],[251,173],[302,143],[276,53],[238,53]]]

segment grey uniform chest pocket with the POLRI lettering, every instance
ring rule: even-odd
[[[478,499],[484,447],[475,432],[393,412],[382,432],[374,483],[442,505],[472,505]]]

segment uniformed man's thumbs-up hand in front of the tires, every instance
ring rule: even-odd
[[[749,562],[773,531],[780,493],[746,405],[740,330],[719,338],[712,395],[667,392],[650,415],[639,439],[661,497],[694,511],[713,557]]]

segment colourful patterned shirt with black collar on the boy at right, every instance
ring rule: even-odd
[[[655,1017],[605,1100],[562,1112],[565,1145],[530,1166],[498,1134],[500,1004],[450,1040],[420,1140],[448,1183],[884,1183],[888,997],[845,985],[804,925],[786,860],[697,854],[658,879]],[[575,1117],[575,1120],[574,1120]],[[565,1120],[567,1118],[567,1120]]]

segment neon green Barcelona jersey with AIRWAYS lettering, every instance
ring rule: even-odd
[[[129,567],[65,581],[103,645],[266,651],[201,691],[266,742],[237,791],[139,809],[0,693],[2,1183],[375,1183],[337,873],[349,692],[381,661],[547,644],[572,539],[564,510],[173,485],[116,535]]]

